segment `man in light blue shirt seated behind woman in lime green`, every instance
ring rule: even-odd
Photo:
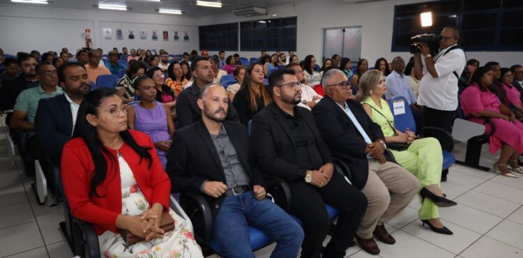
[[[386,75],[385,86],[387,91],[384,92],[384,98],[388,100],[395,96],[403,96],[405,99],[407,99],[407,102],[409,103],[409,106],[412,110],[412,115],[414,116],[414,121],[416,122],[416,128],[411,129],[416,129],[416,132],[421,132],[421,119],[423,117],[423,113],[421,112],[418,105],[416,105],[416,103],[418,103],[418,98],[416,98],[414,92],[412,92],[410,80],[403,74],[405,61],[403,61],[400,56],[396,56],[392,61],[392,68],[392,73]]]

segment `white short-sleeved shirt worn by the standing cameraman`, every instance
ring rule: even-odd
[[[453,47],[453,46],[450,46]],[[437,78],[434,78],[427,71],[425,59],[421,58],[423,64],[423,78],[420,81],[420,93],[418,105],[427,106],[433,109],[453,111],[457,109],[457,77],[460,75],[467,63],[465,53],[461,49],[451,50],[447,54],[447,47],[434,56],[434,68],[436,68]]]

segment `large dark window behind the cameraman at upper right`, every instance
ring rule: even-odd
[[[427,11],[430,29],[420,25],[420,13]],[[445,0],[395,6],[392,51],[406,52],[411,36],[440,33],[448,25],[462,30],[464,50],[523,50],[523,1]]]

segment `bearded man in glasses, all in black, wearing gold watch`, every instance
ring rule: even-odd
[[[333,160],[308,109],[301,102],[301,82],[294,70],[269,77],[274,102],[252,119],[252,146],[266,174],[287,181],[291,213],[303,222],[301,257],[319,257],[331,221],[325,204],[340,209],[333,238],[323,257],[344,257],[365,213],[367,200],[344,176],[333,173]]]

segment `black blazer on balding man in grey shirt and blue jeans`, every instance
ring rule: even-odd
[[[238,158],[250,178],[251,187],[264,186],[259,167],[250,151],[247,128],[234,121],[223,121],[222,125],[225,126]],[[171,179],[172,192],[196,195],[201,193],[200,188],[206,180],[227,184],[220,157],[202,119],[174,132],[171,148],[167,152],[166,170]],[[203,196],[209,202],[214,218],[225,195],[218,199],[205,194]]]

